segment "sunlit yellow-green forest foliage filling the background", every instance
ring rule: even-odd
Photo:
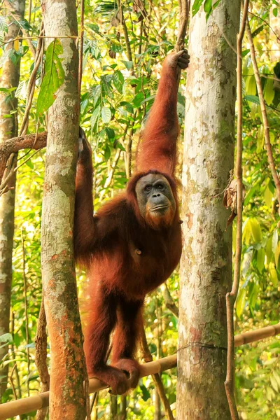
[[[208,18],[218,3],[220,0],[195,0],[192,13],[201,10]],[[276,0],[258,0],[251,6],[248,18],[267,105],[274,160],[276,167],[279,167],[280,6]],[[80,19],[79,13],[78,8]],[[31,36],[31,43],[36,48],[42,15],[39,2],[33,1],[29,18],[17,21],[18,40],[13,43],[13,49],[6,50],[4,37],[9,14],[8,9],[2,8],[0,68],[7,55],[14,62],[20,59],[20,83],[16,90],[0,87],[0,91],[6,94],[7,101],[13,94],[18,97],[18,110],[13,112],[18,112],[20,126],[25,113],[27,83],[34,66],[34,57],[25,36],[20,39],[20,29]],[[118,2],[110,0],[90,0],[85,4],[80,125],[94,151],[95,209],[124,188],[131,175],[141,124],[153,104],[162,59],[176,43],[178,14],[176,1],[127,1],[123,3],[122,10],[118,8]],[[186,41],[188,43],[188,39]],[[231,48],[235,46],[231,45]],[[61,55],[62,46],[56,38],[45,50],[36,75],[36,90],[29,114],[30,133],[47,129],[46,111],[55,101],[55,92],[64,80]],[[279,203],[267,163],[264,125],[246,36],[243,58],[245,197],[236,333],[276,323],[280,314]],[[181,133],[184,125],[185,79],[186,75],[182,75],[179,87]],[[180,150],[182,141],[183,136]],[[29,156],[31,158],[27,160]],[[25,397],[38,392],[40,388],[34,364],[34,337],[41,305],[40,225],[45,152],[41,150],[33,154],[31,151],[22,151],[19,162],[23,160],[26,162],[18,169],[16,187],[12,333],[0,337],[1,342],[6,341],[2,345],[9,346],[8,355],[1,363],[8,363],[12,372],[3,402]],[[178,168],[179,176],[180,171],[181,167]],[[235,223],[233,232],[235,253]],[[84,273],[79,270],[78,292],[81,302],[85,281]],[[174,303],[178,304],[178,272],[174,272],[167,281],[167,288]],[[158,288],[146,300],[146,335],[151,353],[157,358],[176,352],[178,319],[167,306],[165,286]],[[83,304],[81,308],[83,311]],[[236,356],[237,400],[241,418],[280,418],[280,337],[241,346],[237,348]],[[164,372],[162,381],[169,402],[173,404],[176,400],[176,370]],[[99,393],[94,405],[98,418],[108,418],[112,401],[107,393]],[[120,398],[117,403],[120,409]],[[114,404],[116,406],[116,401]],[[127,419],[136,419],[144,413],[143,418],[153,419],[155,405],[153,380],[151,377],[141,379],[136,390],[127,397]],[[28,417],[33,418],[31,414]],[[25,418],[27,416],[22,416],[22,419]]]

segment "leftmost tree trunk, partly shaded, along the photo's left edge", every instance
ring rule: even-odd
[[[25,13],[25,0],[15,0],[13,7],[23,18]],[[8,12],[7,12],[8,13]],[[4,41],[18,36],[19,26],[13,18],[7,18],[8,33]],[[6,52],[14,48],[13,42],[6,45]],[[10,89],[18,87],[20,80],[20,57],[13,62],[6,53],[3,63],[3,72],[0,80],[2,88]],[[18,99],[15,91],[9,94],[0,93],[0,144],[18,136],[18,115],[12,113],[18,108]],[[9,116],[9,117],[7,117]],[[15,160],[16,162],[16,160]],[[14,162],[14,163],[15,163]],[[10,179],[8,193],[0,198],[0,335],[9,332],[10,322],[10,289],[12,284],[12,256],[13,256],[13,232],[15,214],[15,176]],[[1,343],[0,343],[1,344]],[[0,360],[6,355],[8,346],[0,349]],[[8,365],[0,370],[0,403],[3,392],[6,390]]]

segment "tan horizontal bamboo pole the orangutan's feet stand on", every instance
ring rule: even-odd
[[[274,335],[280,334],[280,323],[276,325],[269,325],[265,328],[259,328],[255,331],[244,332],[243,334],[235,335],[235,347],[243,344],[258,341],[267,337],[274,337]],[[140,365],[140,377],[146,377],[149,374],[155,374],[164,372],[165,370],[172,369],[177,365],[177,355],[168,356],[160,360],[154,360],[153,362],[145,363]],[[89,392],[97,392],[101,389],[107,388],[107,386],[98,379],[90,379]],[[9,419],[13,416],[19,416],[26,414],[36,409],[48,407],[49,392],[43,392],[38,395],[34,395],[28,398],[22,398],[21,400],[15,400],[5,402],[0,405],[0,420]]]

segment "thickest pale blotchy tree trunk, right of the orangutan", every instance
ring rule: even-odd
[[[230,419],[225,294],[232,283],[232,230],[223,190],[233,168],[239,1],[190,21],[183,155],[183,236],[177,420]]]

